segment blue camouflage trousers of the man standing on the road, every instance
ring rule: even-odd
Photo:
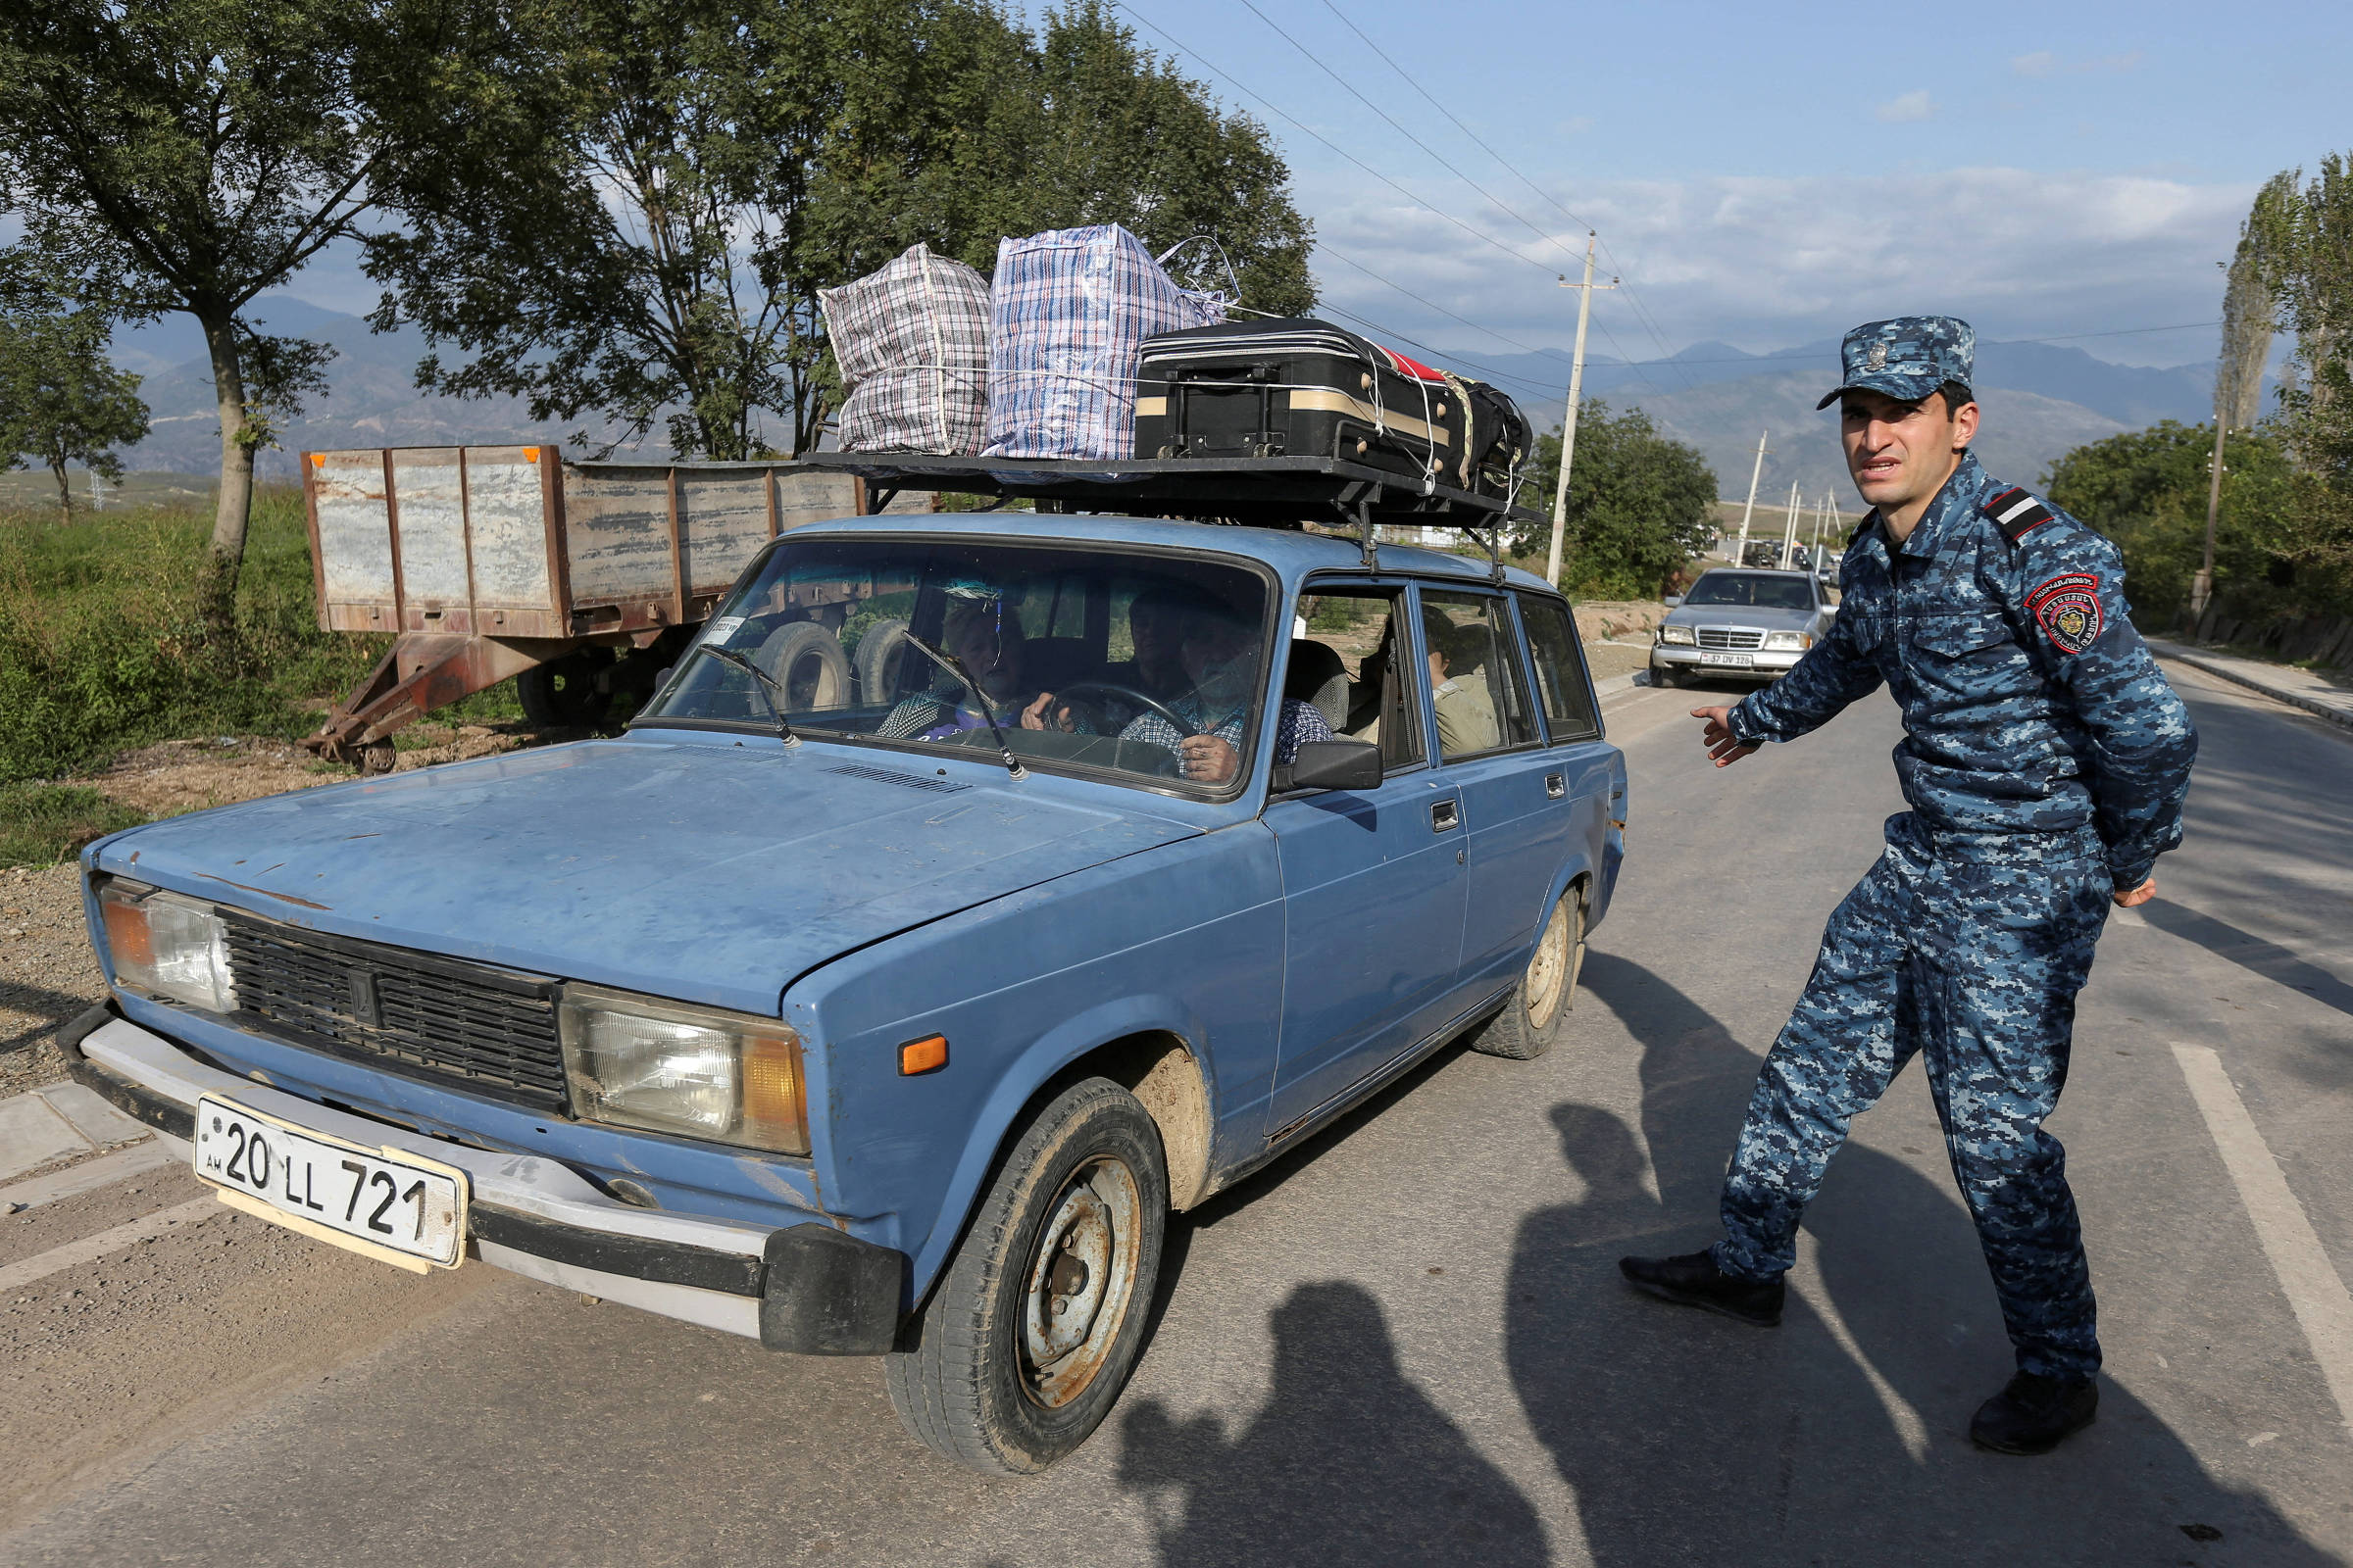
[[[1892,816],[1887,853],[1831,914],[1758,1072],[1715,1265],[1774,1279],[1795,1262],[1798,1220],[1847,1124],[1920,1053],[2019,1371],[2089,1378],[2092,1276],[2066,1150],[2042,1119],[2066,1086],[2108,898],[2089,827],[1958,835]]]

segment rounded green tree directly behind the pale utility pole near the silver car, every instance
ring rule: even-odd
[[[1560,475],[1560,430],[1537,440],[1525,496],[1551,496]],[[1577,468],[1562,529],[1562,585],[1595,599],[1645,599],[1699,555],[1715,534],[1715,470],[1694,447],[1659,435],[1649,414],[1612,416],[1600,397],[1577,411]],[[1551,538],[1522,531],[1525,555]]]

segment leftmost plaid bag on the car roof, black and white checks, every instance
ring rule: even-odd
[[[840,289],[819,289],[842,364],[842,451],[981,449],[988,418],[988,280],[913,244]]]

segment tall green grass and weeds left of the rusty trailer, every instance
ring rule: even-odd
[[[304,736],[318,726],[306,701],[367,675],[384,637],[318,630],[296,489],[254,496],[228,642],[198,616],[209,534],[212,508],[176,501],[71,524],[0,510],[0,785],[179,736]]]

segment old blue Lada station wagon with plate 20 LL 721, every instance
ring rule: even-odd
[[[913,1436],[1033,1472],[1118,1399],[1172,1211],[1454,1039],[1562,1034],[1624,795],[1529,574],[849,517],[616,738],[92,844],[68,1056],[245,1211],[873,1354]]]

